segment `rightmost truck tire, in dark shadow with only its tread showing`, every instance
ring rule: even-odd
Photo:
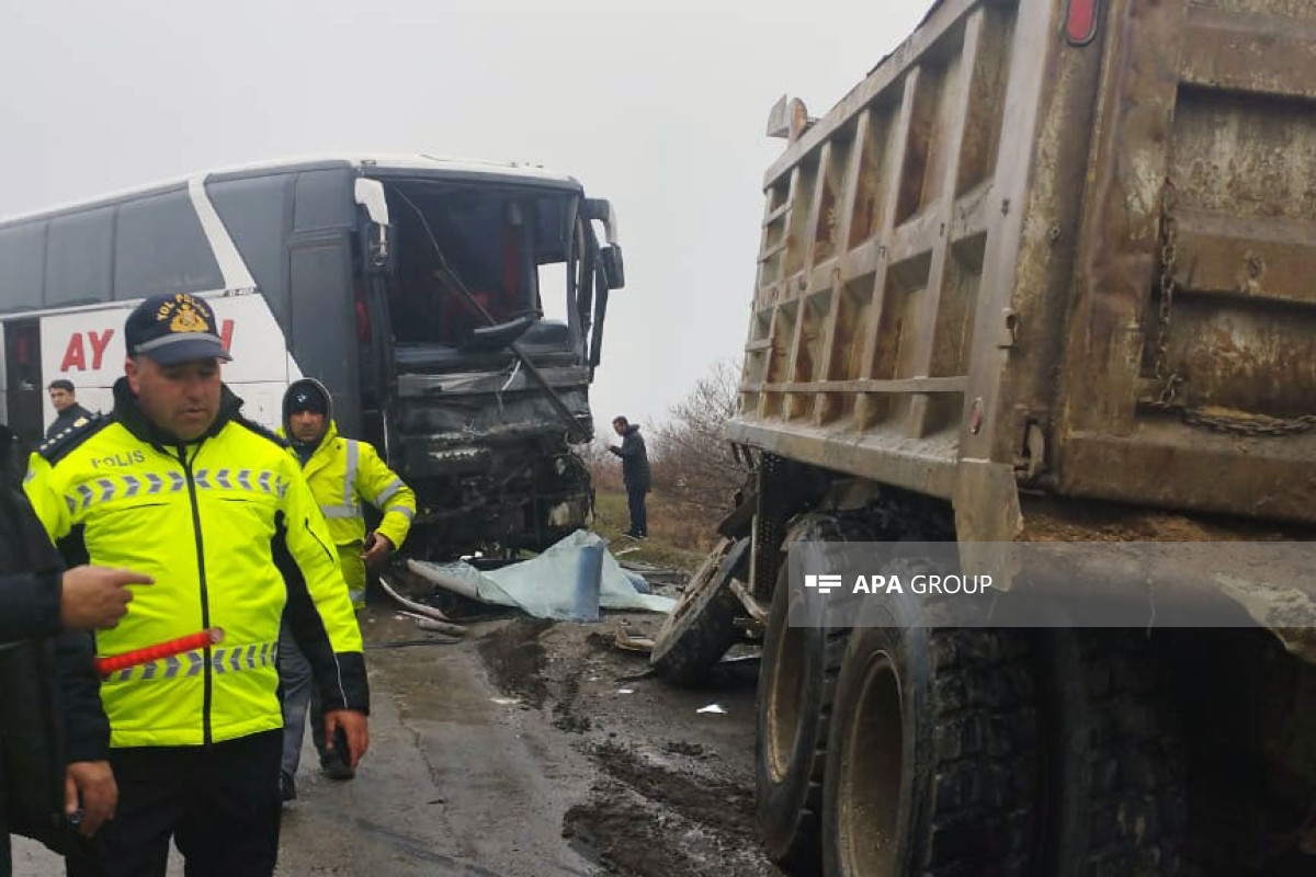
[[[1049,630],[1044,648],[1054,776],[1046,873],[1184,873],[1186,752],[1146,634]]]

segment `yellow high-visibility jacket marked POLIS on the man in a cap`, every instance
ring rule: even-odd
[[[28,496],[68,563],[154,577],[96,634],[117,655],[218,627],[204,650],[101,682],[112,747],[197,746],[276,730],[280,618],[315,671],[326,710],[368,711],[361,631],[333,538],[296,460],[245,421],[224,388],[218,419],[179,446],[128,389],[114,410],[42,446]]]

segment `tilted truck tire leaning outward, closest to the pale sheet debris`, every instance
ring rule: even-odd
[[[704,560],[663,621],[649,664],[678,685],[697,685],[740,635],[736,617],[745,610],[732,579],[745,577],[749,539],[724,539]]]

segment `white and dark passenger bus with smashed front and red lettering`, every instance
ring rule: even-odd
[[[600,239],[599,233],[603,233]],[[0,221],[0,414],[38,439],[63,377],[108,410],[122,323],[204,295],[245,413],[303,375],[415,489],[409,554],[541,550],[592,514],[574,446],[608,293],[611,205],[517,164],[334,158],[217,171]]]

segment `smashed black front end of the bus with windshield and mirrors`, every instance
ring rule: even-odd
[[[611,205],[566,179],[367,174],[362,423],[421,497],[412,544],[541,550],[586,526],[572,448],[594,438],[588,388],[624,284]]]

